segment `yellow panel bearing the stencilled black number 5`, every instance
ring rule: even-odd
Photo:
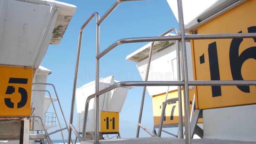
[[[30,116],[33,68],[0,66],[0,116]]]

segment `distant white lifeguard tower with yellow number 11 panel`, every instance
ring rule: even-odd
[[[102,90],[108,86],[118,83],[114,76],[100,78],[99,89]],[[134,87],[119,87],[107,93],[100,95],[99,99],[99,132],[100,138],[109,134],[116,134],[116,138],[121,138],[119,133],[119,113],[121,112],[124,101],[129,89]],[[76,89],[76,109],[77,109],[77,131],[82,133],[84,123],[84,107],[88,96],[95,92],[95,81],[84,84]],[[94,140],[95,127],[95,100],[90,100],[88,107],[88,118],[86,126],[86,139]]]

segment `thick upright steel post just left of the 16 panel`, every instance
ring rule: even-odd
[[[178,15],[179,15],[179,27],[181,35],[181,51],[182,51],[182,63],[183,63],[183,75],[184,75],[184,110],[185,110],[185,129],[186,129],[186,144],[191,144],[190,139],[190,121],[189,121],[189,93],[188,93],[188,68],[187,68],[187,57],[186,57],[186,44],[185,44],[185,30],[183,21],[183,9],[182,0],[177,0],[178,4]]]

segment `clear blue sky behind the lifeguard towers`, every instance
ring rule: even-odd
[[[77,10],[59,45],[50,45],[41,65],[52,70],[48,76],[48,83],[56,86],[64,115],[69,123],[70,105],[76,63],[77,43],[79,31],[83,23],[93,12],[99,12],[100,16],[114,4],[116,0],[59,0],[74,4]],[[100,25],[100,52],[118,39],[129,37],[158,36],[170,28],[178,28],[175,19],[166,0],[149,0],[125,2],[120,4],[114,12]],[[81,47],[77,88],[93,81],[95,75],[95,18],[84,29]],[[132,80],[141,80],[136,63],[125,60],[126,56],[136,51],[147,43],[123,44],[109,52],[100,59],[101,77],[109,76],[110,72],[125,72],[127,77],[117,78],[119,81],[131,79],[132,73],[136,72]],[[82,76],[86,72],[88,76]],[[90,78],[90,75],[92,78]],[[81,77],[82,76],[82,77]],[[47,87],[53,93],[51,87]],[[120,134],[122,138],[133,138],[139,117],[140,102],[143,87],[136,87],[128,92],[122,112],[120,113]],[[52,94],[53,95],[53,94]],[[53,96],[54,97],[54,96]],[[55,104],[57,105],[57,103]],[[75,106],[76,107],[76,106]],[[52,109],[49,112],[53,112]],[[76,126],[76,108],[74,111],[74,126]],[[58,109],[60,116],[60,110]],[[65,126],[62,122],[62,128]],[[142,124],[149,130],[153,128],[152,99],[146,92]],[[176,133],[177,131],[173,131]],[[64,132],[67,137],[67,132]],[[140,137],[149,135],[140,130]],[[60,133],[53,135],[52,139],[61,139]]]

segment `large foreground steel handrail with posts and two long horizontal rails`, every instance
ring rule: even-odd
[[[186,128],[186,144],[191,143],[190,139],[190,121],[189,121],[189,97],[188,97],[188,85],[189,82],[191,85],[197,84],[196,82],[193,81],[188,81],[188,69],[187,69],[187,58],[186,58],[186,45],[185,45],[185,39],[220,39],[220,38],[246,38],[246,37],[256,37],[256,33],[250,33],[250,34],[208,34],[208,35],[187,35],[185,36],[184,32],[184,21],[183,21],[183,10],[182,10],[182,2],[181,0],[177,0],[178,3],[178,17],[179,17],[179,27],[180,27],[180,35],[179,36],[158,36],[158,37],[143,37],[143,38],[128,38],[128,39],[121,39],[116,41],[114,44],[110,45],[107,49],[105,49],[103,52],[99,53],[99,25],[102,23],[103,20],[105,20],[108,15],[120,4],[120,2],[124,1],[133,1],[133,0],[118,0],[116,3],[114,3],[110,9],[103,15],[102,19],[100,19],[98,22],[96,22],[96,74],[95,74],[95,93],[93,95],[90,95],[85,104],[85,114],[84,114],[84,126],[83,126],[83,137],[85,137],[85,130],[86,130],[86,120],[87,120],[87,115],[88,115],[88,104],[90,99],[95,97],[95,143],[99,143],[99,116],[98,116],[98,109],[99,109],[99,95],[100,93],[107,92],[111,90],[111,88],[114,87],[120,87],[122,85],[132,85],[132,86],[159,86],[159,85],[164,85],[167,83],[158,83],[158,82],[149,82],[149,83],[140,83],[140,82],[121,82],[119,84],[114,84],[112,87],[105,88],[101,91],[98,91],[99,89],[99,59],[107,54],[109,51],[114,49],[116,46],[124,43],[136,43],[136,42],[151,42],[151,41],[167,41],[167,40],[180,40],[181,41],[181,58],[182,58],[182,74],[183,74],[183,81],[172,81],[169,82],[167,85],[183,85],[184,86],[184,110],[185,110],[185,128]],[[90,20],[89,20],[90,21]],[[81,28],[82,30],[82,28]],[[73,112],[74,112],[74,102],[75,102],[75,92],[76,92],[76,80],[77,80],[77,70],[78,70],[78,64],[79,64],[79,56],[80,56],[80,47],[81,47],[81,39],[82,39],[82,31],[80,31],[80,36],[79,36],[79,43],[78,43],[78,52],[77,52],[77,59],[76,59],[76,69],[75,69],[75,77],[74,77],[74,86],[73,86],[73,95],[72,95],[72,102],[71,102],[71,114],[70,114],[70,122],[72,123],[73,121]],[[244,82],[241,83],[241,81],[236,81],[236,82],[231,82],[231,81],[219,81],[216,82],[215,84],[222,85],[221,82],[224,82],[225,84],[234,84],[234,85],[239,85],[239,84],[245,84]],[[253,83],[255,81],[250,81]],[[136,85],[137,84],[137,85]],[[200,84],[200,82],[198,83]],[[202,85],[212,85],[212,81],[201,81]],[[214,83],[213,83],[214,84]],[[255,83],[256,84],[256,83]],[[248,85],[248,84],[247,84]],[[69,127],[70,129],[70,127]],[[71,132],[69,132],[68,136],[68,144],[70,144],[70,138],[71,138]],[[85,139],[85,138],[84,138]],[[82,139],[82,140],[84,140]]]

